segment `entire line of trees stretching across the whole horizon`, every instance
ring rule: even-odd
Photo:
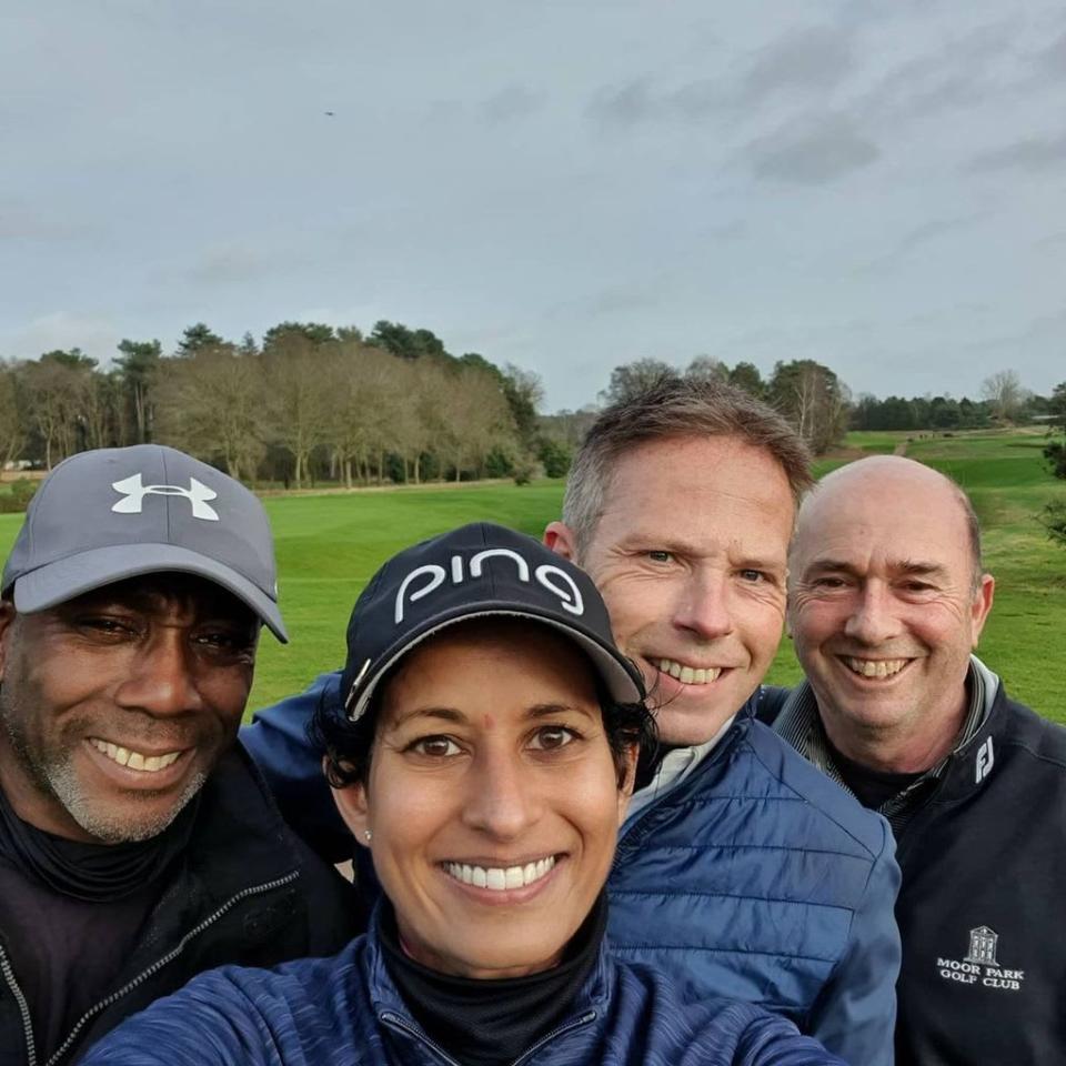
[[[603,403],[663,375],[730,382],[780,410],[816,454],[848,429],[951,432],[1054,421],[1059,389],[1042,398],[1014,371],[982,396],[869,394],[824,364],[778,361],[767,378],[754,363],[728,366],[698,355],[678,371],[657,359],[616,366]],[[234,342],[198,322],[173,351],[158,340],[123,340],[103,369],[77,348],[0,362],[0,462],[51,469],[77,451],[172,444],[249,483],[303,487],[512,476],[536,465],[563,476],[596,408],[543,415],[536,374],[455,356],[431,330],[385,320],[356,326],[281,322],[261,342]],[[1049,457],[1049,461],[1050,457]],[[1066,460],[1062,460],[1066,462]]]

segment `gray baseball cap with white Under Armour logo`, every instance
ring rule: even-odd
[[[80,452],[41,482],[3,567],[23,614],[127,577],[179,571],[221,585],[279,641],[274,545],[240,482],[160,444]]]

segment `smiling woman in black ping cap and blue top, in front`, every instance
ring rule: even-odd
[[[580,570],[487,524],[400,553],[355,604],[342,695],[316,730],[383,889],[371,932],[204,974],[87,1066],[839,1064],[611,956],[604,885],[652,724]]]

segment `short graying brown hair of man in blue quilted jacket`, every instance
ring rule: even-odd
[[[650,441],[683,436],[735,438],[768,453],[797,503],[812,484],[809,449],[768,404],[725,382],[664,374],[601,412],[574,456],[563,521],[574,534],[579,562],[595,533],[620,456]]]

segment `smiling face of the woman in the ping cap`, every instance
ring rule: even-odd
[[[365,785],[344,802],[424,965],[555,965],[603,889],[627,800],[595,674],[572,641],[503,621],[444,630],[383,688]]]

